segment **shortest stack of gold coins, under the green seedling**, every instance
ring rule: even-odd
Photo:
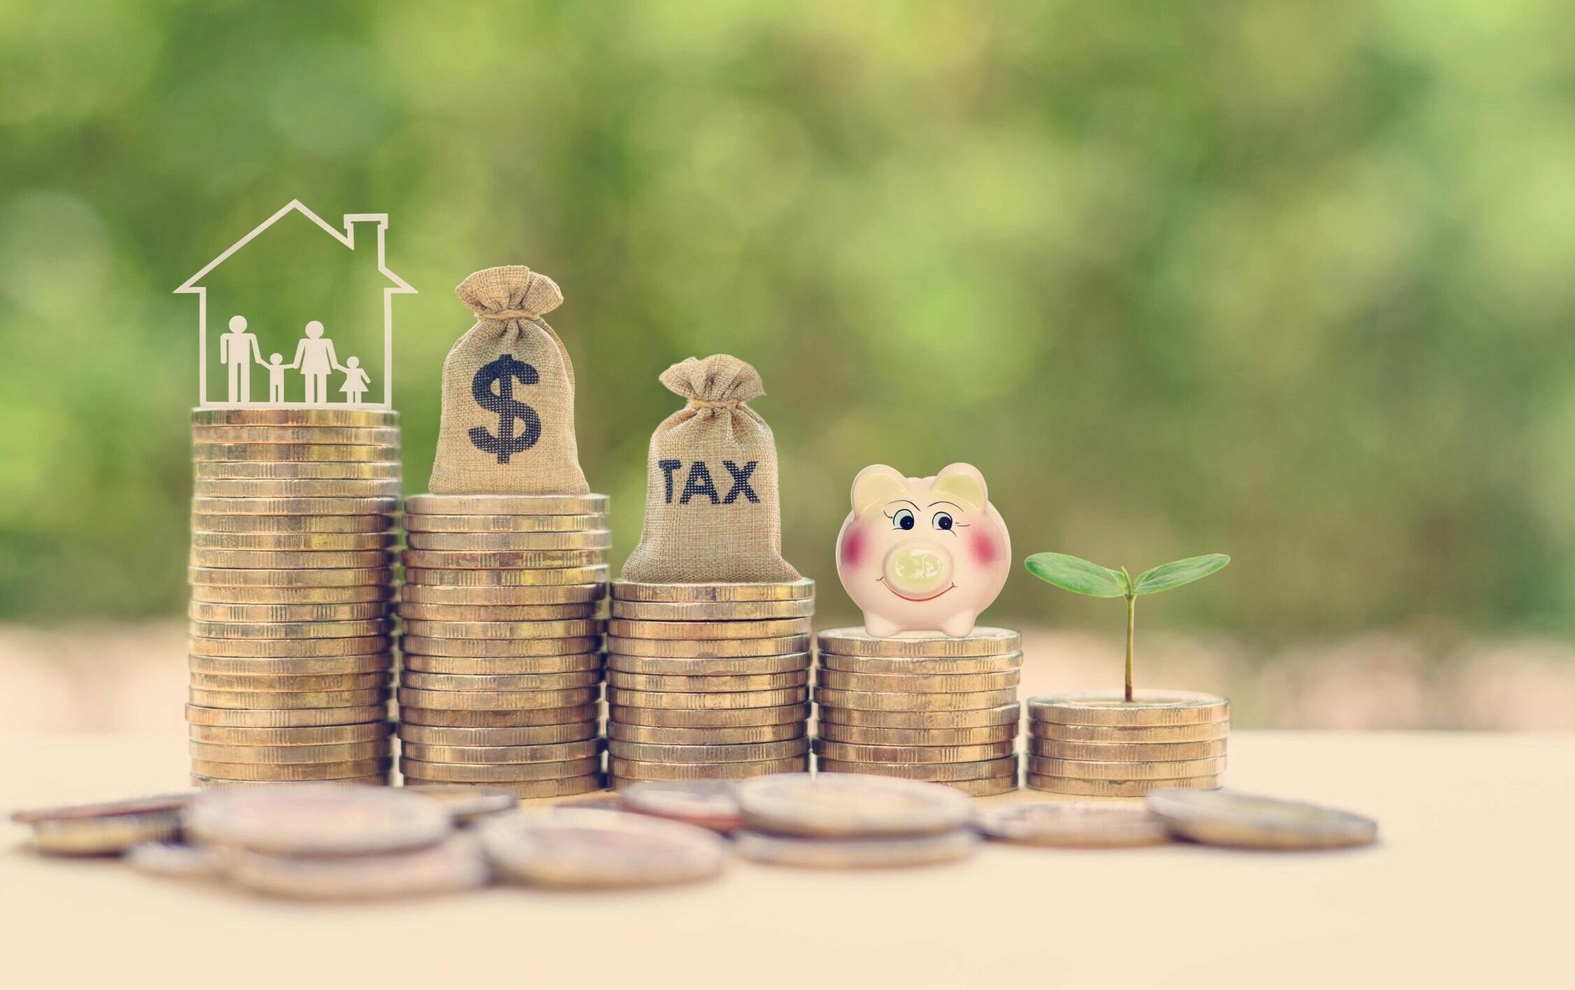
[[[1230,702],[1217,694],[1137,691],[1028,699],[1028,787],[1136,798],[1219,787]]]

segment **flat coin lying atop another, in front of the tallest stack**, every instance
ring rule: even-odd
[[[443,806],[375,787],[299,784],[205,792],[187,833],[209,845],[282,856],[348,856],[421,848],[454,829]]]

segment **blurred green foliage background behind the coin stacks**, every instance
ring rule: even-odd
[[[1169,625],[1564,631],[1572,49],[1551,0],[0,0],[0,617],[180,611],[172,290],[301,198],[389,212],[421,293],[410,491],[452,286],[562,285],[614,563],[657,375],[728,351],[828,614],[854,474],[965,460],[1019,559],[1233,554]],[[995,614],[1107,604],[1019,571]]]

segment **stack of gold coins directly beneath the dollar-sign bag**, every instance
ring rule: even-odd
[[[598,790],[606,496],[422,494],[405,512],[405,781]]]

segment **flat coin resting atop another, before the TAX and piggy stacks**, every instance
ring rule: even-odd
[[[739,785],[745,825],[759,833],[811,837],[893,837],[967,825],[965,796],[915,781],[783,774]]]

